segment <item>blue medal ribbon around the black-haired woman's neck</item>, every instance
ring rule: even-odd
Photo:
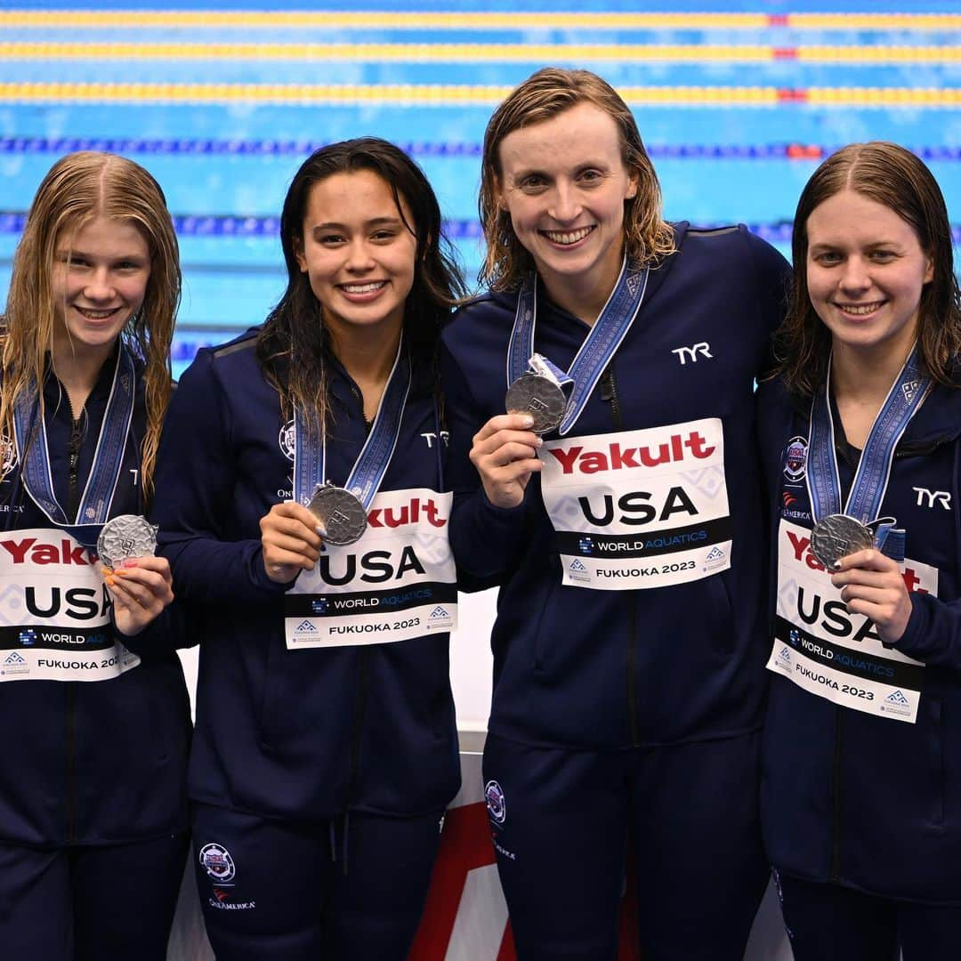
[[[407,405],[407,394],[410,392],[410,377],[410,359],[404,351],[402,336],[374,424],[367,434],[366,443],[357,455],[350,477],[344,482],[344,487],[357,498],[364,510],[370,507],[377,496],[383,475],[394,456],[401,433],[404,407]],[[294,500],[299,504],[307,504],[314,487],[318,483],[327,482],[324,472],[327,460],[327,431],[324,431],[319,445],[308,444],[307,425],[298,409],[295,413],[294,434]]]

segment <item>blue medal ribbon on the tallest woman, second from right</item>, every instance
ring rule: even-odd
[[[558,383],[574,382],[574,390],[571,392],[564,419],[557,428],[561,436],[570,432],[578,422],[587,399],[597,386],[597,382],[601,380],[610,358],[617,353],[621,342],[628,335],[630,325],[633,324],[644,301],[649,273],[648,267],[638,270],[628,264],[627,258],[624,259],[617,283],[614,284],[614,289],[607,298],[607,303],[604,304],[594,326],[580,345],[578,355],[574,358],[566,375],[546,357],[541,358]],[[507,345],[508,386],[528,370],[530,357],[535,356],[536,325],[537,274],[532,273],[517,298],[514,327],[510,332],[510,342]],[[540,358],[539,355],[537,357]]]

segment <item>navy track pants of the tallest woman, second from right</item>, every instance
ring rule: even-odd
[[[520,961],[617,957],[626,852],[644,961],[741,961],[770,876],[759,736],[626,752],[487,738],[483,776]]]

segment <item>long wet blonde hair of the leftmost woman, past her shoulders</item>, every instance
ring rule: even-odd
[[[133,160],[82,151],[58,160],[37,188],[13,256],[0,320],[0,436],[13,438],[13,407],[43,382],[53,344],[53,273],[58,242],[95,217],[132,224],[150,252],[143,305],[120,334],[144,362],[147,430],[140,451],[145,500],[153,492],[160,429],[170,399],[170,342],[181,295],[177,235],[160,185]],[[43,392],[39,390],[40,415]]]

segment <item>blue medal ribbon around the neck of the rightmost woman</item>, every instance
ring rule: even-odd
[[[918,348],[915,345],[892,383],[884,404],[877,412],[857,464],[848,501],[842,511],[841,479],[834,447],[834,418],[828,400],[830,378],[828,360],[825,388],[815,394],[811,402],[807,467],[807,492],[811,501],[811,514],[815,521],[819,521],[829,514],[843,512],[864,525],[870,525],[877,519],[888,489],[895,448],[911,418],[924,404],[932,382],[921,371]],[[889,524],[877,531],[878,542],[882,546],[887,531],[891,528],[892,525]]]

